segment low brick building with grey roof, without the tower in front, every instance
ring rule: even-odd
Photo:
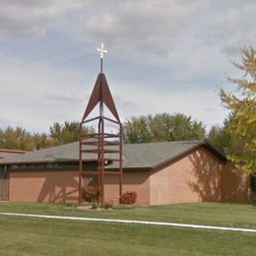
[[[105,168],[118,169],[113,155]],[[96,170],[86,156],[83,173]],[[78,143],[0,160],[0,200],[78,202]],[[85,175],[83,184],[96,184]],[[1,185],[2,184],[2,185]],[[3,187],[3,184],[8,184]],[[134,190],[140,205],[252,200],[252,177],[232,172],[232,164],[208,142],[127,144],[123,147],[123,192]],[[118,202],[118,177],[105,174],[105,201]]]

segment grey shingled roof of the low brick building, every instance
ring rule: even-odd
[[[226,160],[224,155],[208,142],[181,141],[125,144],[123,146],[123,168],[154,168],[169,160],[174,160],[183,154],[203,146],[220,160]],[[105,155],[108,160],[117,156]],[[69,143],[45,150],[34,151],[24,155],[7,157],[0,160],[2,164],[69,162],[79,160],[79,143]],[[86,155],[84,160],[96,160],[95,155]],[[115,167],[110,165],[109,167]]]

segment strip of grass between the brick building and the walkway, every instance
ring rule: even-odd
[[[256,204],[176,204],[83,212],[57,204],[0,203],[0,212],[256,228]]]

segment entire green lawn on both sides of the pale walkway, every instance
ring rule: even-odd
[[[0,203],[0,212],[256,227],[256,205],[181,204],[80,212],[64,205]],[[0,255],[253,255],[256,234],[141,224],[0,217]]]

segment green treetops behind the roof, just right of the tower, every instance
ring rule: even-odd
[[[126,143],[202,140],[205,133],[202,122],[181,113],[132,117],[124,124]]]

